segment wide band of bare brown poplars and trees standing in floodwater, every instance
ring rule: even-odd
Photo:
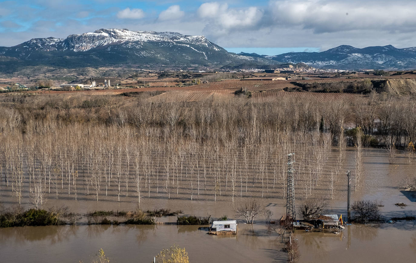
[[[324,188],[332,198],[347,140],[399,149],[416,136],[411,97],[69,95],[1,97],[2,195],[35,207],[45,198],[285,197],[286,155],[294,152],[302,197]],[[362,135],[344,131],[347,124]]]

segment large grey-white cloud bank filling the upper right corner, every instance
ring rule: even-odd
[[[415,2],[278,0],[270,2],[273,19],[315,33],[347,30],[407,30],[416,23]],[[404,2],[403,2],[404,3]]]

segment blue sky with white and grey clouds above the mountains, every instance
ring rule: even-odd
[[[0,46],[100,28],[205,35],[232,52],[416,46],[414,0],[0,1]]]

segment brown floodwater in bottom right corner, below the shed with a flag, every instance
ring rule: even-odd
[[[415,262],[415,222],[347,226],[340,234],[297,231],[300,263]]]

